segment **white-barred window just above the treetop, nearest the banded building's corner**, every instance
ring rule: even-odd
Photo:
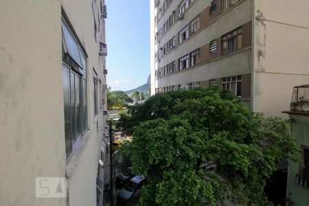
[[[222,89],[229,90],[234,95],[242,96],[242,76],[231,76],[227,78],[221,78]]]

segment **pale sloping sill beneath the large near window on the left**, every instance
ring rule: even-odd
[[[76,168],[76,165],[78,164],[78,160],[80,159],[80,156],[82,155],[82,150],[84,150],[84,146],[86,146],[89,137],[91,136],[91,130],[88,130],[87,133],[80,137],[80,144],[76,148],[76,150],[73,152],[73,155],[69,162],[67,162],[67,177],[71,177],[73,175],[73,172]]]

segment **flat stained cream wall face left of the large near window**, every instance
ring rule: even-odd
[[[0,1],[0,205],[36,198],[38,176],[65,176],[59,1]]]

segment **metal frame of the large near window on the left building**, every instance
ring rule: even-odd
[[[74,60],[72,56],[69,54],[69,51],[66,50],[67,41],[65,39],[65,34],[63,32],[63,26],[66,27],[67,31],[73,37],[73,40],[76,42],[78,46],[77,50],[80,56],[80,63],[76,62],[76,60]],[[69,98],[69,104],[67,106],[66,103],[64,102],[65,119],[67,119],[65,120],[65,122],[69,121],[69,131],[67,131],[67,127],[65,125],[65,148],[66,148],[65,152],[68,162],[69,160],[71,160],[71,157],[73,157],[73,154],[76,152],[78,146],[80,145],[80,141],[83,139],[84,135],[86,135],[87,131],[89,130],[88,128],[89,113],[88,113],[88,98],[87,98],[88,93],[87,54],[84,52],[82,44],[78,40],[76,33],[71,27],[71,24],[63,11],[61,17],[61,31],[62,31],[62,82],[64,89],[63,97],[64,99]],[[68,72],[67,74],[69,74],[68,76],[69,80],[66,79],[67,82],[65,82],[65,69],[67,69]],[[74,80],[72,80],[72,76],[74,77]],[[76,82],[76,80],[78,80],[77,81],[78,83]],[[69,91],[67,91],[69,92],[69,97],[65,96],[66,93],[65,84],[67,84],[67,86],[69,87]],[[74,88],[72,87],[72,85]],[[72,95],[72,92],[74,93],[74,95]],[[78,95],[76,95],[77,94],[76,92],[78,92]],[[79,99],[78,101],[76,97],[78,97]],[[78,106],[77,110],[78,112],[76,112],[76,106]],[[68,111],[69,116],[67,116],[68,113],[66,111],[66,108],[69,109]],[[73,114],[72,111],[74,111]],[[69,137],[67,137],[68,133]],[[69,143],[67,141],[69,141]]]

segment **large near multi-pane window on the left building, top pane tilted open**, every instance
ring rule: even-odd
[[[67,158],[88,130],[86,56],[77,38],[62,20],[62,82],[65,107],[65,150]]]

